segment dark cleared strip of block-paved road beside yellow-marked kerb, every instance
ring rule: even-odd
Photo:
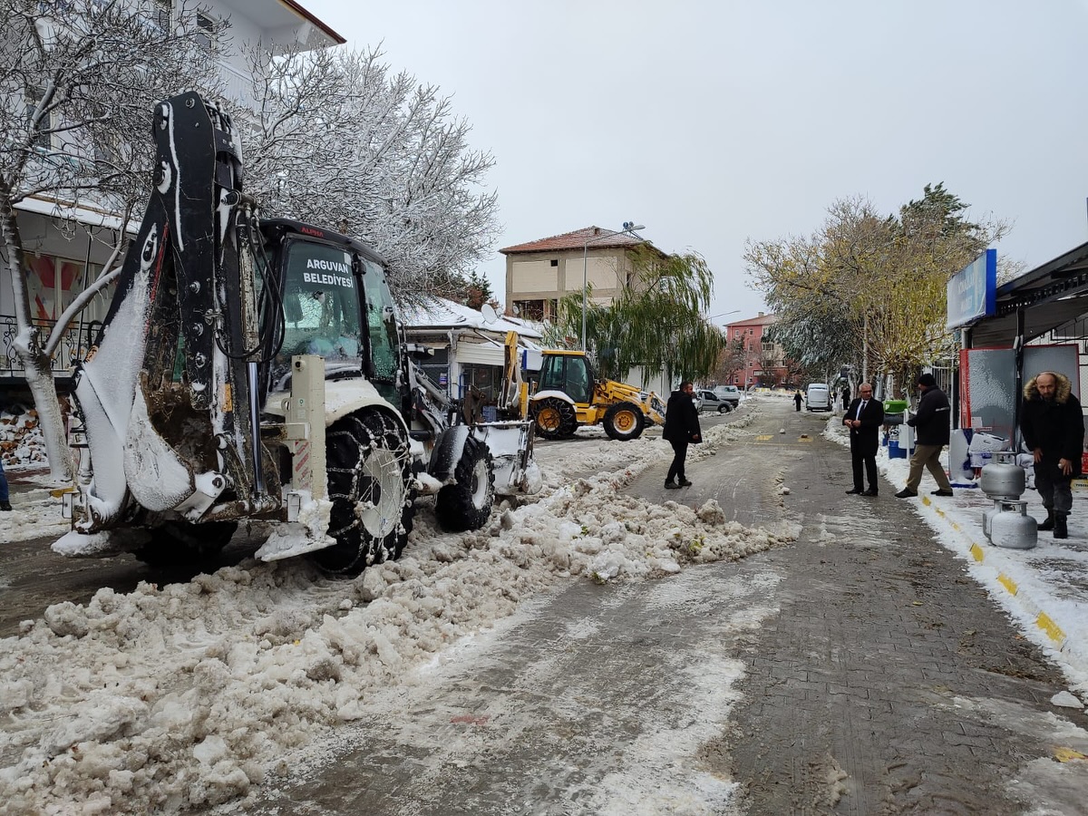
[[[1059,668],[894,487],[845,495],[849,454],[818,437],[778,453],[803,533],[754,559],[783,580],[724,741],[747,812],[1088,813],[1088,763],[1059,762],[1088,753],[1088,717],[1050,703]]]

